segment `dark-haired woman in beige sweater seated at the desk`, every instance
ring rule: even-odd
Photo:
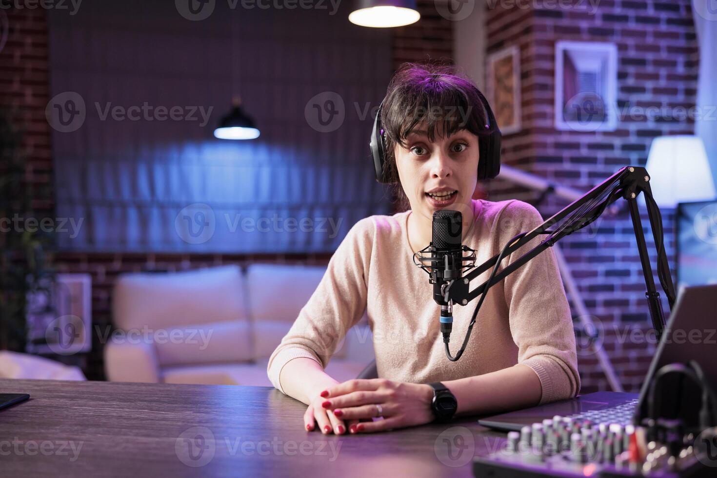
[[[438,382],[455,397],[457,415],[575,396],[580,379],[572,320],[551,249],[491,287],[457,362],[446,357],[440,307],[428,276],[413,264],[413,253],[431,241],[432,215],[438,209],[462,212],[462,243],[477,251],[476,264],[543,222],[536,209],[521,201],[472,199],[484,160],[479,142],[486,139],[488,124],[478,89],[441,68],[404,65],[391,80],[380,119],[386,174],[410,209],[362,219],[348,232],[270,357],[267,372],[274,386],[308,405],[305,429],[318,424],[325,434],[433,421]],[[538,236],[503,259],[501,267],[539,241]],[[473,281],[471,289],[489,273]],[[454,355],[475,302],[453,309]],[[364,310],[380,378],[338,383],[323,368]],[[377,416],[384,419],[372,421]]]

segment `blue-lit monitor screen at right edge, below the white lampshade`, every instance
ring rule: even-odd
[[[677,281],[717,284],[717,201],[678,204]]]

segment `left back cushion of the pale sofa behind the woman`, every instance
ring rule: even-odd
[[[123,330],[247,320],[238,266],[189,272],[125,274],[113,295],[115,326]]]

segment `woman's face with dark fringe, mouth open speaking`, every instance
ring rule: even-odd
[[[478,136],[458,130],[432,142],[421,127],[395,147],[399,179],[414,212],[432,219],[438,209],[465,213],[478,181]],[[465,214],[464,214],[465,216]]]

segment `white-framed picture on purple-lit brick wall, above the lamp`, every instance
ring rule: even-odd
[[[555,128],[617,128],[617,46],[605,42],[556,42]]]

